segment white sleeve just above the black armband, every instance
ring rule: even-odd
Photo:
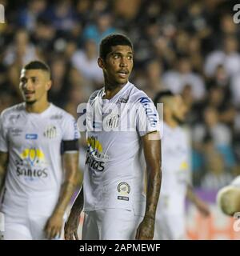
[[[80,137],[75,118],[70,114],[66,114],[62,123],[62,141],[76,140]]]

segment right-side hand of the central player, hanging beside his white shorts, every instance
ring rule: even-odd
[[[143,218],[142,222],[138,226],[136,240],[153,240],[154,238],[154,219]]]

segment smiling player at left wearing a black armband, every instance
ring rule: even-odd
[[[0,211],[5,239],[58,238],[78,171],[74,118],[47,100],[50,69],[33,61],[22,68],[23,103],[0,119]]]

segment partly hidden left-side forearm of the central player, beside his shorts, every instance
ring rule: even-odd
[[[83,208],[83,185],[80,190],[78,197],[76,198],[74,205],[70,211],[69,218],[64,227],[64,234],[66,240],[78,240],[78,226],[79,226],[79,218]]]

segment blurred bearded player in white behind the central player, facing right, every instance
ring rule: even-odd
[[[190,142],[180,124],[186,118],[186,106],[180,95],[170,90],[156,95],[154,103],[163,103],[162,188],[158,201],[154,239],[175,240],[185,237],[185,199],[190,199],[204,215],[208,206],[190,186]]]

